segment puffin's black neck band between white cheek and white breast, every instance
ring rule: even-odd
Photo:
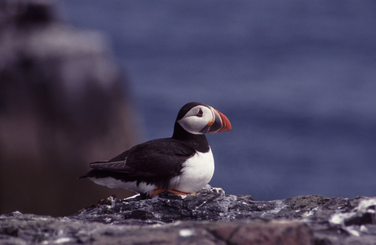
[[[172,139],[183,141],[198,152],[207,153],[210,149],[205,134],[193,134],[185,131],[179,123],[175,122]]]

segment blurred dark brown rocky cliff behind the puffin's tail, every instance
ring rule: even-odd
[[[0,213],[66,215],[113,193],[76,178],[135,144],[126,81],[55,1],[0,0]]]

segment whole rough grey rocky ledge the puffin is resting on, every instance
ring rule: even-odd
[[[206,186],[182,197],[111,196],[68,217],[0,216],[0,244],[374,245],[376,197],[255,201]]]

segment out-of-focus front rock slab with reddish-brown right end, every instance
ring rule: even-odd
[[[165,225],[111,225],[33,214],[0,216],[0,244],[311,244],[299,222],[188,221]]]

